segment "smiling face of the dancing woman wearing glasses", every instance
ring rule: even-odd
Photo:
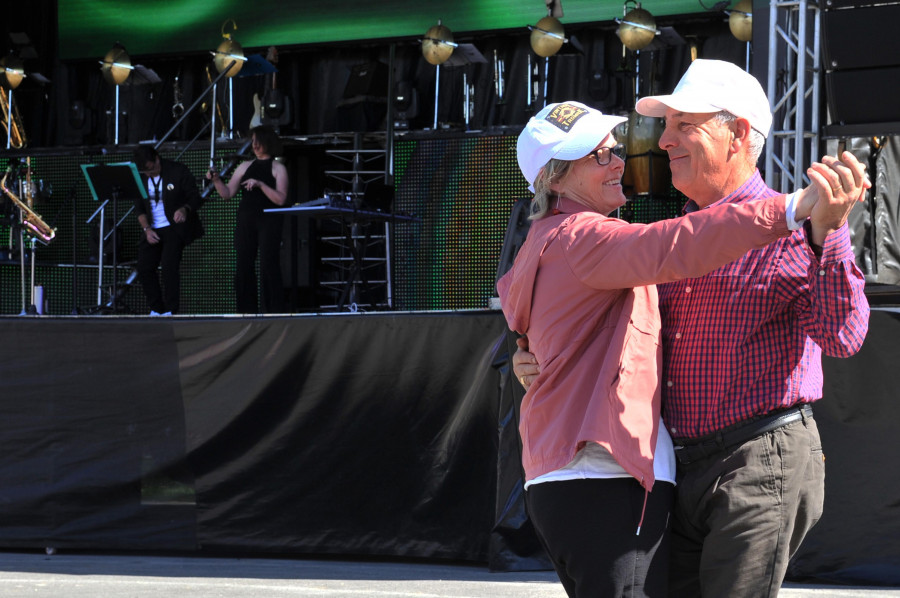
[[[616,138],[609,134],[595,148],[605,151],[616,146]],[[601,160],[603,161],[603,160]],[[551,189],[570,199],[586,205],[595,212],[609,215],[625,205],[627,201],[622,192],[622,175],[625,172],[625,161],[619,156],[609,153],[609,163],[599,165],[595,154],[591,153],[580,160],[575,160],[566,173],[565,178]]]

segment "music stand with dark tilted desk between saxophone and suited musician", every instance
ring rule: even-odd
[[[116,164],[82,164],[84,178],[88,182],[91,190],[91,196],[94,201],[109,201],[112,203],[113,210],[113,228],[112,228],[112,246],[113,246],[113,285],[112,285],[112,302],[113,312],[118,308],[119,299],[119,258],[117,255],[118,245],[118,229],[119,229],[119,200],[134,200],[138,197],[147,199],[147,190],[141,181],[141,175],[138,173],[137,166],[133,162],[120,162]],[[93,218],[93,216],[92,216]],[[103,277],[103,245],[106,241],[106,231],[100,226],[100,246],[98,248],[98,258],[100,260],[100,283]]]

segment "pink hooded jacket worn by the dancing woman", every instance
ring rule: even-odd
[[[648,491],[659,428],[662,347],[656,287],[701,276],[788,236],[785,198],[629,224],[563,199],[535,221],[497,283],[509,327],[541,373],[519,431],[527,480],[597,442]]]

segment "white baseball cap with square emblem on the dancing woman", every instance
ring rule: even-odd
[[[578,160],[591,153],[623,116],[603,114],[580,102],[549,104],[532,116],[519,134],[516,157],[519,169],[534,191],[534,181],[547,162]]]

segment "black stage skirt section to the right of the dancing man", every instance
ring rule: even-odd
[[[900,310],[877,309],[850,359],[824,358],[815,405],[825,451],[825,512],[791,562],[792,579],[900,585]]]

